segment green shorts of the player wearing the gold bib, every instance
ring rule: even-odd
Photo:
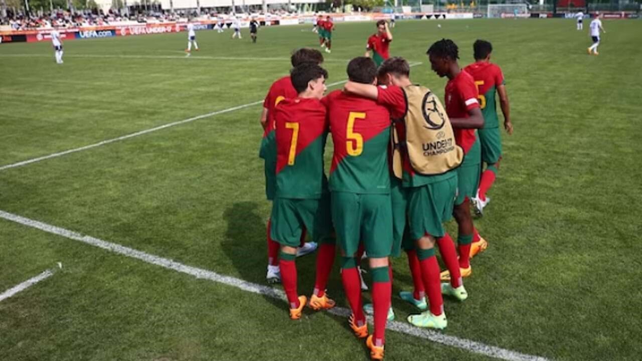
[[[453,215],[456,191],[455,172],[453,177],[408,188],[408,227],[412,241],[419,240],[426,234],[435,238],[446,234],[444,222]]]

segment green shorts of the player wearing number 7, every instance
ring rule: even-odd
[[[319,199],[275,198],[272,202],[270,236],[281,245],[299,247],[303,229],[308,229],[313,242],[332,243],[330,196]]]

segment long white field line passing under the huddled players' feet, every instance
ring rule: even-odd
[[[80,233],[76,233],[64,228],[56,227],[55,225],[49,225],[43,222],[39,222],[37,220],[31,220],[30,218],[24,218],[19,215],[14,215],[13,213],[0,211],[0,218],[10,220],[18,224],[26,225],[28,227],[33,227],[35,229],[40,229],[40,231],[45,231],[47,233],[63,236],[65,238],[69,238],[70,240],[76,240],[83,243],[87,243],[88,245],[92,245],[94,247],[105,249],[110,252],[121,254],[123,256],[136,258],[137,260],[141,260],[146,263],[150,263],[152,265],[157,265],[165,269],[175,270],[177,272],[189,274],[198,279],[209,279],[210,281],[223,283],[225,285],[233,286],[247,292],[266,295],[269,297],[273,297],[275,299],[282,299],[283,301],[286,301],[284,292],[272,287],[257,285],[256,283],[243,281],[243,279],[238,279],[236,277],[223,276],[221,274],[212,272],[210,270],[204,270],[196,267],[187,266],[182,263],[178,263],[177,261],[169,260],[168,258],[154,256],[153,254],[148,254],[143,251],[137,251],[135,249],[125,247],[117,243],[103,241],[98,238],[94,238],[92,236],[83,236]],[[342,308],[342,307],[335,307],[332,310],[330,310],[330,312],[333,313],[334,315],[340,315],[345,317],[347,317],[347,315],[350,314],[350,310],[347,310],[346,308]],[[439,344],[444,344],[446,346],[465,349],[473,353],[478,353],[480,355],[485,355],[485,356],[494,357],[494,358],[501,358],[503,360],[548,361],[544,357],[526,355],[516,351],[510,351],[508,349],[498,348],[496,346],[489,346],[487,344],[483,344],[481,342],[476,342],[473,340],[460,339],[459,337],[444,335],[443,333],[439,333],[437,331],[415,328],[410,324],[406,324],[404,322],[397,322],[397,321],[388,322],[387,328],[389,330],[405,333],[406,335],[412,335],[415,337],[419,337],[421,339],[431,340]]]

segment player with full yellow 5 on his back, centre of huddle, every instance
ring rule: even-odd
[[[367,57],[349,62],[349,80],[376,83],[377,67]],[[363,242],[372,274],[374,333],[367,339],[373,359],[383,358],[385,328],[392,285],[388,256],[392,251],[392,205],[388,171],[390,113],[376,101],[344,91],[324,98],[328,109],[334,155],[330,168],[332,216],[342,249],[342,280],[352,309],[350,326],[357,337],[368,336],[357,252]]]

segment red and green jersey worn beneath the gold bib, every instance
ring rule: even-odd
[[[400,87],[395,85],[380,85],[377,89],[377,103],[388,108],[392,119],[399,119],[395,121],[394,126],[397,130],[397,136],[399,136],[399,142],[402,144],[406,141],[406,125],[403,121],[403,118],[406,116],[406,111],[408,111],[408,104],[406,101],[406,94]],[[455,172],[446,172],[440,175],[418,174],[410,164],[410,158],[408,157],[406,149],[402,146],[400,151],[403,158],[403,175],[401,184],[404,187],[419,187],[424,184],[431,184],[440,180],[449,179],[456,175]]]

